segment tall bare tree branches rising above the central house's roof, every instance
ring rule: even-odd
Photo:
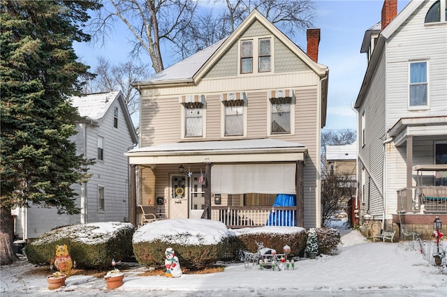
[[[217,9],[195,0],[109,1],[91,23],[96,37],[105,38],[115,22],[123,22],[133,39],[131,54],[149,54],[156,73],[164,69],[162,43],[184,59],[228,36],[254,9],[289,36],[312,26],[316,11],[312,0],[215,0]]]

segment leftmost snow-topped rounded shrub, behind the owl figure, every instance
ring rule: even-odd
[[[97,222],[61,227],[46,232],[25,248],[28,261],[48,265],[56,257],[56,245],[67,245],[78,268],[110,268],[112,259],[132,255],[133,224]]]

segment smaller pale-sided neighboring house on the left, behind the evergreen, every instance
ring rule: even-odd
[[[77,153],[96,159],[91,178],[73,185],[80,215],[57,215],[55,208],[16,209],[15,234],[24,240],[68,224],[129,221],[129,165],[124,153],[138,142],[131,116],[120,91],[71,98],[83,121],[71,140]]]

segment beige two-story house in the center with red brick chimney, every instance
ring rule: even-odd
[[[328,67],[317,63],[320,30],[307,33],[305,54],[254,10],[228,38],[133,83],[131,222],[138,204],[156,204],[170,219],[261,226],[280,196],[279,224],[320,225]]]

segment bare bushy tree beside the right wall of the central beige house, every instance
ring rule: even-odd
[[[346,208],[346,203],[356,195],[356,176],[349,173],[325,174],[321,181],[321,223],[327,225],[333,213]]]

